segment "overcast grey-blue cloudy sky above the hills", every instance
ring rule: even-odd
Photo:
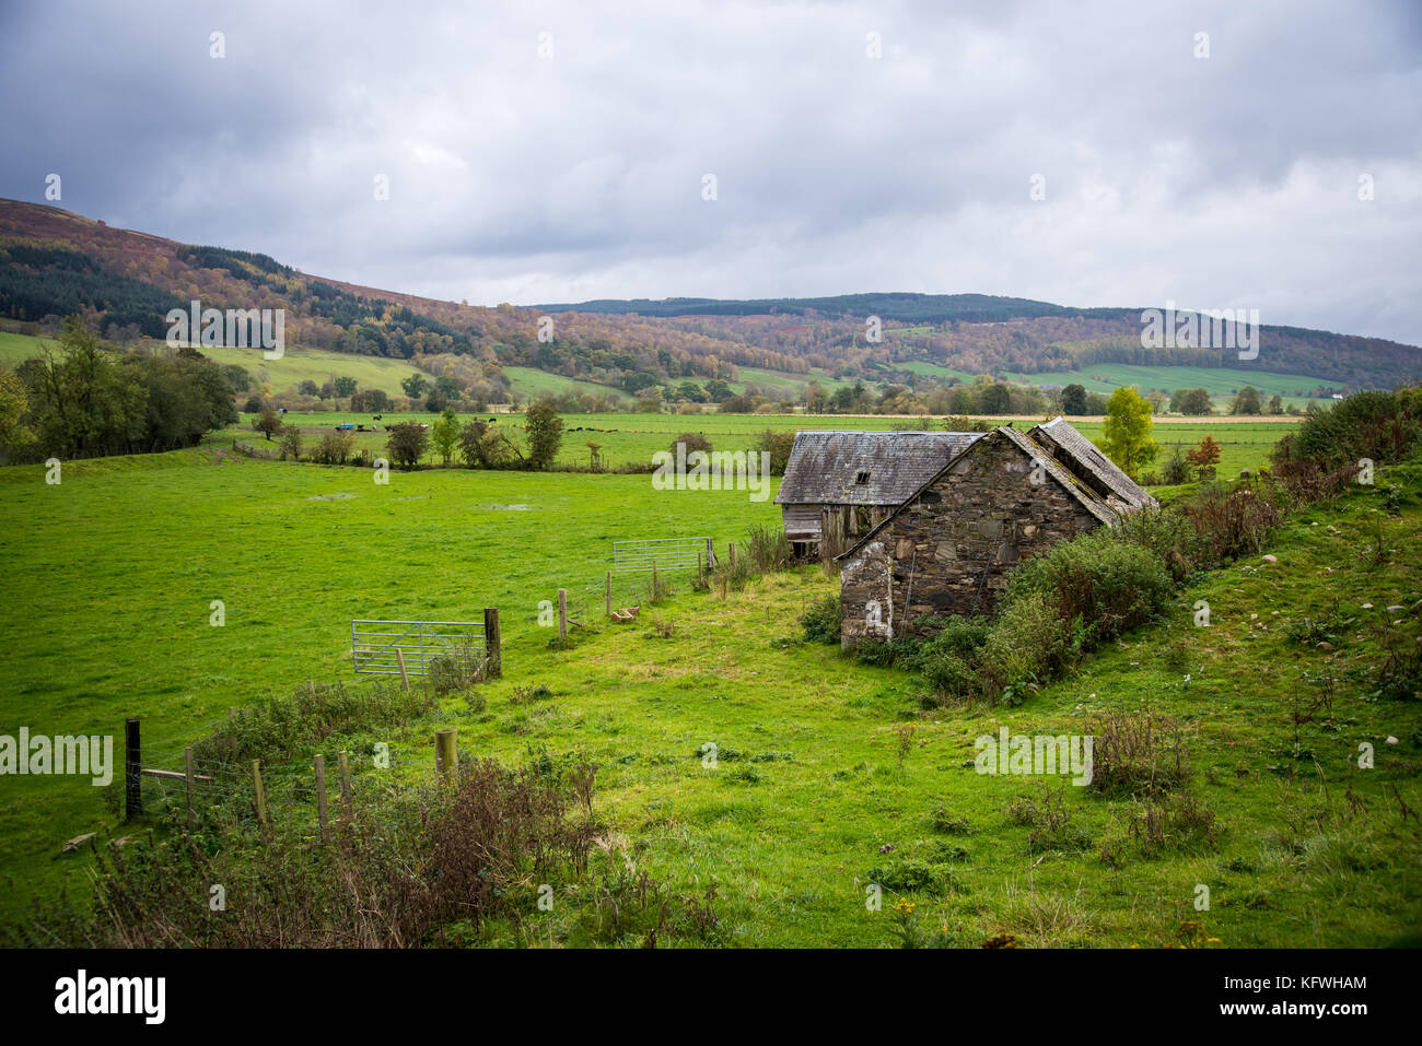
[[[4,0],[0,196],[48,173],[472,304],[981,291],[1419,344],[1422,3]]]

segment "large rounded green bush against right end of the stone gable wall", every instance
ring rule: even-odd
[[[1094,530],[1012,571],[1003,618],[1022,617],[1031,635],[1037,610],[1020,611],[1018,604],[1041,600],[1068,628],[1079,624],[1082,645],[1089,649],[1159,614],[1172,588],[1170,573],[1153,551],[1113,530]],[[1048,662],[1055,657],[1052,652]]]

